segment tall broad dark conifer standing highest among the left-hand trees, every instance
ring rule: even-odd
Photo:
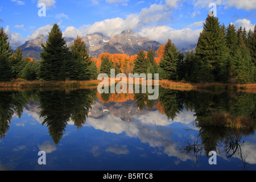
[[[59,26],[55,23],[49,32],[46,45],[42,44],[39,77],[43,80],[65,80],[73,75],[74,64]]]

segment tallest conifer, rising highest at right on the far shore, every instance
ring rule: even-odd
[[[200,81],[225,82],[227,80],[228,55],[224,26],[220,26],[218,18],[208,15],[197,42],[196,55],[200,61]]]

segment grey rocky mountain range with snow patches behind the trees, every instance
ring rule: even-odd
[[[65,42],[68,47],[73,44],[74,38],[65,38]],[[136,55],[141,49],[148,51],[152,48],[155,52],[161,45],[155,40],[143,38],[135,35],[133,30],[127,29],[122,31],[121,34],[115,35],[112,38],[104,36],[99,33],[88,34],[82,37],[88,47],[90,56],[98,57],[101,53],[125,53],[126,55]],[[22,49],[23,56],[35,57],[36,60],[40,60],[40,52],[43,51],[41,44],[45,44],[47,39],[44,35],[38,35],[33,40],[27,40],[20,48]],[[191,51],[195,46],[191,48],[182,49],[181,52]]]

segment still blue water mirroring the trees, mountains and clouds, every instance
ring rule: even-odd
[[[256,169],[256,94],[160,88],[158,100],[147,98],[96,89],[1,91],[0,169]]]

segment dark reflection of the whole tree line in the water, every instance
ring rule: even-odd
[[[14,114],[20,118],[24,107],[37,103],[40,118],[43,118],[42,125],[48,127],[48,133],[55,144],[60,142],[69,121],[78,130],[85,125],[88,115],[93,113],[96,101],[108,108],[123,109],[120,111],[122,116],[118,117],[126,122],[133,122],[134,115],[144,110],[147,113],[159,111],[172,121],[184,110],[193,111],[196,119],[191,122],[199,129],[198,138],[186,139],[182,151],[195,155],[196,161],[202,151],[208,155],[210,151],[218,151],[222,147],[227,158],[239,154],[245,164],[241,139],[254,135],[256,129],[256,94],[246,92],[214,94],[159,88],[158,100],[148,100],[148,94],[142,93],[99,94],[96,89],[35,90],[0,92],[0,99],[1,138],[8,132]],[[127,108],[130,108],[129,111]],[[95,112],[94,117],[97,117],[99,113],[97,110]],[[223,146],[220,146],[220,142]]]

